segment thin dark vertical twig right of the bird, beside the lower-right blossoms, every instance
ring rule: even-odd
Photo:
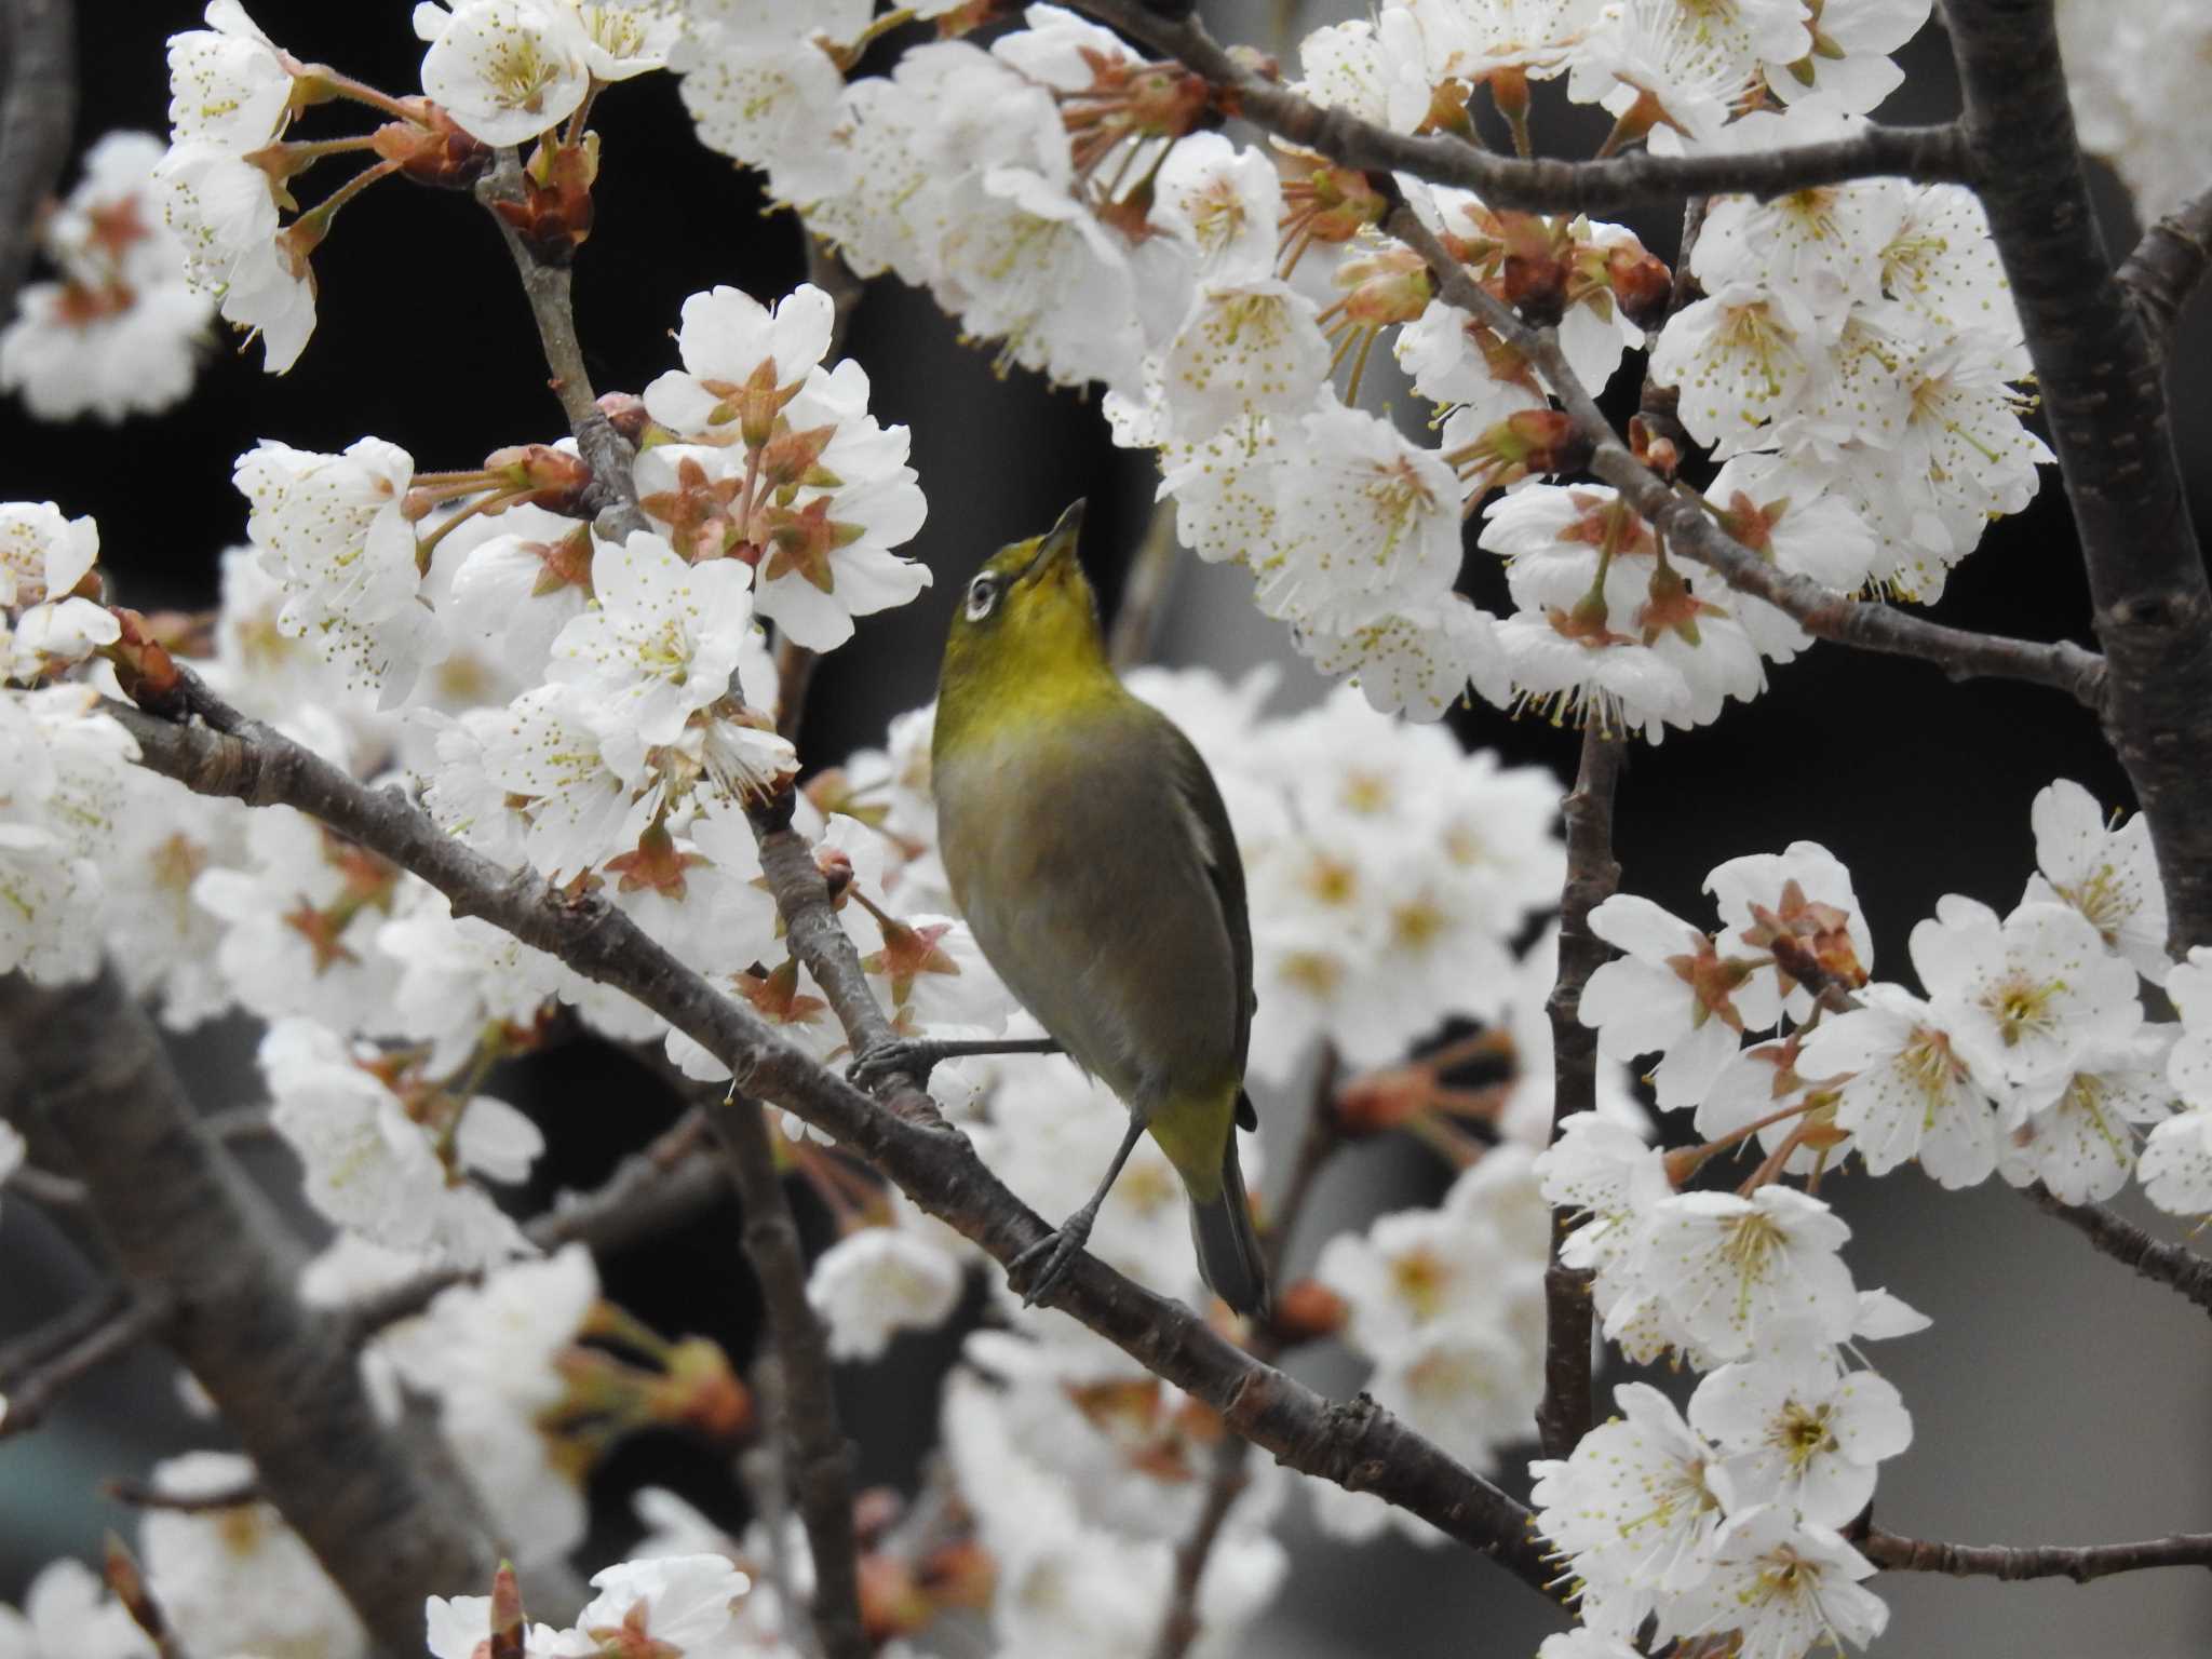
[[[1553,1137],[1573,1113],[1597,1108],[1597,1033],[1582,1024],[1582,989],[1606,960],[1590,931],[1590,911],[1621,885],[1613,858],[1613,796],[1621,779],[1624,739],[1597,721],[1582,728],[1582,768],[1562,807],[1566,816],[1566,885],[1559,889],[1559,975],[1553,980]],[[1544,1400],[1535,1409],[1546,1458],[1564,1458],[1590,1431],[1590,1274],[1559,1261],[1575,1210],[1551,1212],[1551,1259],[1544,1265]]]

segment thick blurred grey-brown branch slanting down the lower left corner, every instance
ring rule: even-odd
[[[86,1183],[133,1307],[168,1310],[161,1340],[378,1646],[418,1650],[422,1597],[491,1575],[487,1528],[458,1482],[378,1422],[343,1323],[301,1305],[296,1245],[199,1133],[113,971],[60,991],[0,978],[0,1102]]]

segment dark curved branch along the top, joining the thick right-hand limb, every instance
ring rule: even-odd
[[[1933,184],[1969,177],[1969,155],[1955,126],[1869,126],[1851,139],[1801,144],[1763,155],[1624,155],[1608,161],[1522,161],[1438,133],[1409,137],[1338,108],[1310,104],[1261,80],[1221,46],[1197,13],[1166,18],[1144,0],[1071,0],[1141,46],[1177,58],[1212,82],[1223,115],[1318,150],[1365,173],[1411,173],[1431,184],[1478,192],[1493,208],[1526,212],[1617,212],[1663,197],[1739,190],[1785,195],[1843,179],[1900,177]]]

